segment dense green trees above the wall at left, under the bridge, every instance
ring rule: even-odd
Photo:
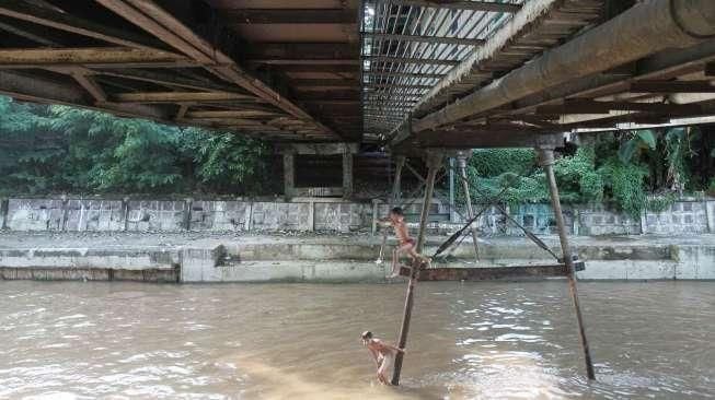
[[[255,193],[268,150],[233,133],[0,96],[0,193]]]

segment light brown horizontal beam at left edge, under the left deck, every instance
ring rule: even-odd
[[[161,50],[128,47],[0,49],[1,66],[113,64],[132,62],[180,62],[185,57]]]

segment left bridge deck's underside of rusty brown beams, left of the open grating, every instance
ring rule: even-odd
[[[358,0],[7,0],[0,93],[272,141],[361,140]]]

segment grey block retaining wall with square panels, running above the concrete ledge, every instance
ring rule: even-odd
[[[417,221],[422,202],[403,199],[407,220]],[[371,232],[389,204],[380,200],[333,198],[182,199],[9,198],[0,199],[0,227],[11,232]],[[535,234],[554,234],[549,204],[504,204],[509,215]],[[454,232],[464,211],[436,199],[430,232]],[[570,235],[697,235],[715,233],[715,199],[684,198],[638,217],[603,204],[564,204]],[[476,222],[487,236],[522,236],[494,207]]]

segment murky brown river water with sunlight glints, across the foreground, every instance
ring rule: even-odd
[[[400,388],[359,344],[396,338],[403,285],[0,283],[0,398],[715,398],[715,287],[420,283]]]

